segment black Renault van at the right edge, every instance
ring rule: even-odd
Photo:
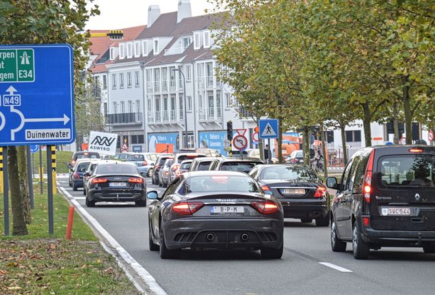
[[[356,259],[370,249],[423,247],[435,253],[435,147],[387,145],[358,150],[337,189],[331,214],[332,251],[352,242]]]

